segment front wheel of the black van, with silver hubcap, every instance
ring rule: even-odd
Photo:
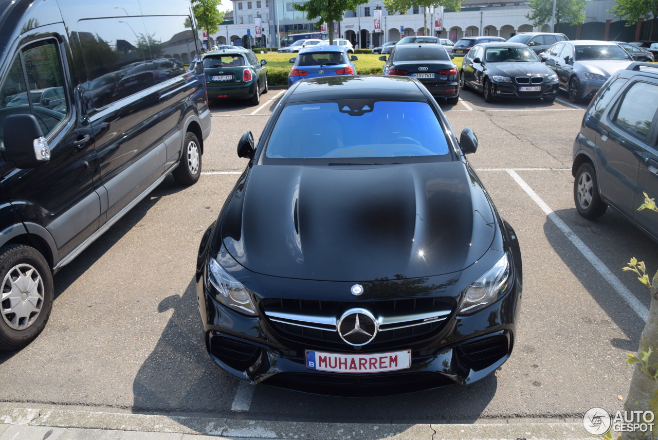
[[[0,349],[22,349],[41,333],[53,308],[53,274],[34,247],[0,249]]]

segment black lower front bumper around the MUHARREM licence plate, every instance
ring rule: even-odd
[[[513,349],[520,280],[515,276],[507,293],[492,305],[469,316],[455,310],[440,326],[391,343],[376,343],[356,350],[332,341],[285,331],[263,313],[245,316],[218,303],[197,281],[197,299],[203,318],[205,342],[211,358],[226,372],[249,383],[345,397],[410,393],[482,379],[501,366]],[[433,324],[434,325],[434,324]],[[332,345],[333,344],[333,345]],[[337,374],[309,370],[305,351],[343,354],[411,351],[411,367],[397,372]]]

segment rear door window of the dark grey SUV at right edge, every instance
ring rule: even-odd
[[[615,124],[625,132],[644,140],[658,110],[658,87],[645,82],[636,82],[619,104]]]

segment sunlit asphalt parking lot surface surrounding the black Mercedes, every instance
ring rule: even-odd
[[[632,374],[626,353],[638,347],[649,306],[647,289],[622,266],[638,257],[656,270],[658,256],[617,212],[595,222],[576,213],[571,149],[584,106],[565,95],[488,104],[464,91],[457,105],[442,103],[458,135],[466,126],[478,135],[468,159],[524,258],[518,340],[495,376],[336,399],[243,385],[216,367],[195,301],[197,247],[247,163],[238,139],[247,130],[259,137],[281,93],[270,90],[259,106],[214,103],[201,180],[182,188],[168,178],[55,276],[45,331],[22,351],[0,353],[1,406],[410,425],[575,420],[592,406],[621,408]]]

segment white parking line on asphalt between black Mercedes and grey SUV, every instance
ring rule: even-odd
[[[609,270],[596,255],[594,255],[590,248],[587,247],[587,245],[583,243],[580,238],[578,238],[578,235],[570,230],[569,226],[567,226],[567,224],[565,224],[565,222],[563,222],[557,216],[557,214],[555,214],[555,212],[553,212],[553,210],[548,205],[546,205],[546,203],[537,195],[537,193],[532,190],[528,183],[526,183],[519,176],[519,174],[517,174],[514,170],[507,170],[507,172],[517,183],[519,183],[519,186],[522,187],[526,193],[528,193],[530,198],[537,205],[539,205],[540,208],[542,208],[548,218],[550,218],[551,221],[555,223],[555,226],[560,228],[560,230],[565,235],[567,235],[569,241],[571,241],[576,249],[578,249],[578,251],[580,251],[580,253],[582,253],[582,255],[584,255],[584,257],[587,258],[590,263],[592,263],[592,266],[594,266],[599,274],[601,274],[601,276],[603,276],[603,278],[605,278],[605,280],[610,283],[613,289],[619,293],[619,296],[622,297],[624,301],[626,301],[630,308],[632,308],[633,311],[636,312],[638,316],[640,316],[640,318],[646,322],[647,317],[649,316],[649,310],[647,310],[647,308],[642,303],[640,303],[640,301],[638,301],[638,299],[632,293],[630,293],[628,289],[626,289],[626,286],[624,286],[622,282],[619,281],[619,278],[617,278],[617,276],[615,276],[615,274],[613,274],[611,270]]]

